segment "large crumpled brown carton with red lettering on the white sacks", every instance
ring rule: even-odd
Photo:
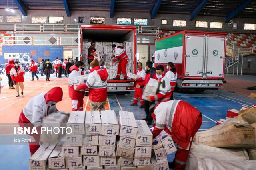
[[[230,121],[238,119],[229,120],[206,131],[196,133],[194,141],[211,147],[253,146],[255,143],[254,127],[248,123],[230,123]]]

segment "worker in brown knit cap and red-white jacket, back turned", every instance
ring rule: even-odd
[[[84,84],[77,86],[77,90],[89,88],[90,110],[105,110],[107,100],[108,72],[100,68],[97,59],[90,63],[90,74]]]

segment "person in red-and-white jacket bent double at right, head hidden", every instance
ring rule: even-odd
[[[178,144],[169,168],[184,170],[192,139],[202,125],[201,112],[181,100],[169,100],[156,105],[152,117],[156,121],[153,125],[153,136],[156,137],[164,130]]]

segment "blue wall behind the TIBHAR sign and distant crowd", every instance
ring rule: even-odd
[[[36,51],[36,56],[32,56],[34,61],[37,61],[38,57],[43,57],[44,59],[50,59],[54,61],[56,57],[63,58],[63,47],[57,46],[2,46],[3,55],[0,55],[0,64],[4,64],[4,53],[31,53],[31,50]],[[45,51],[50,51],[50,56],[44,56]]]

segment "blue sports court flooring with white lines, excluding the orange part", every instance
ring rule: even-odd
[[[134,93],[125,95],[109,94],[110,109],[117,114],[119,110],[134,112],[136,119],[145,117],[144,109],[130,106]],[[226,118],[228,109],[240,109],[242,105],[252,106],[256,100],[222,90],[206,90],[195,92],[194,90],[174,92],[176,100],[190,103],[202,112],[203,123],[199,131],[206,130],[216,125],[216,121]],[[10,113],[11,114],[11,113]],[[0,145],[0,170],[28,170],[30,152],[28,145]],[[169,162],[174,154],[168,155]]]

